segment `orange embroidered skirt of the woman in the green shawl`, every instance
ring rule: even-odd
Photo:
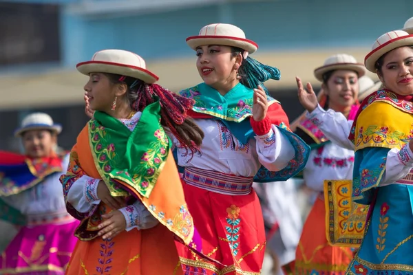
[[[100,203],[99,210],[111,211],[103,203]],[[123,275],[182,274],[173,233],[158,224],[148,230],[123,231],[110,241],[100,237],[92,241],[78,241],[65,274],[96,272]]]

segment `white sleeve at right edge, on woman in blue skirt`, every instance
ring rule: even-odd
[[[392,184],[394,181],[403,179],[413,168],[413,153],[409,144],[405,144],[400,150],[392,148],[385,161],[385,174],[381,179],[380,186]]]

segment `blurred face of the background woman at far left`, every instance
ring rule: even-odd
[[[48,130],[29,130],[22,135],[23,147],[30,157],[48,157],[57,142],[56,134]]]

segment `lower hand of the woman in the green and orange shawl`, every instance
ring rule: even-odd
[[[107,219],[98,225],[98,236],[105,239],[113,239],[114,236],[126,229],[126,220],[122,212],[114,210],[102,215],[103,219]]]

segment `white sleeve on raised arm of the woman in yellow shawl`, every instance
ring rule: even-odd
[[[354,144],[348,140],[352,120],[347,120],[342,113],[333,110],[326,111],[320,105],[311,113],[307,113],[306,116],[323,131],[331,142],[343,148],[354,150]]]

